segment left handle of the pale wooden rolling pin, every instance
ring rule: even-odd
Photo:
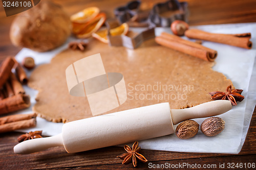
[[[59,146],[63,146],[62,134],[20,142],[15,145],[13,151],[15,154],[31,154]]]

